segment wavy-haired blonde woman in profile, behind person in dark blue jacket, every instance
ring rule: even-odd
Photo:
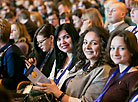
[[[24,24],[15,22],[11,25],[10,39],[14,39],[15,45],[21,49],[24,55],[31,52],[31,37]]]

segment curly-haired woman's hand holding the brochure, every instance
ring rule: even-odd
[[[59,97],[62,91],[59,90],[57,85],[52,79],[49,79],[51,84],[45,84],[45,83],[37,83],[38,86],[33,86],[33,89],[44,91],[46,93],[53,93],[55,97]]]

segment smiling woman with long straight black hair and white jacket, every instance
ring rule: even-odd
[[[73,24],[65,23],[60,25],[55,31],[54,49],[56,61],[53,65],[50,78],[56,82],[62,71],[67,69],[60,81],[56,82],[59,88],[62,87],[67,74],[77,62],[76,49],[78,40],[79,34],[73,27]]]

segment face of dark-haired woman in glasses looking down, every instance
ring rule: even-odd
[[[52,45],[53,39],[51,37],[47,38],[47,37],[44,37],[43,35],[37,35],[36,39],[37,39],[38,47],[43,52],[49,52],[51,50],[53,46]]]

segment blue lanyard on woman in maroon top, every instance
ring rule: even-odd
[[[129,65],[122,73],[120,73],[120,75],[106,88],[107,84],[111,81],[111,79],[113,77],[116,76],[116,74],[119,72],[119,67],[113,72],[113,74],[109,77],[108,81],[106,82],[102,92],[100,93],[100,95],[96,98],[96,100],[94,100],[93,102],[100,102],[102,96],[107,92],[107,90],[113,85],[115,84],[129,69],[131,68],[131,66]]]

